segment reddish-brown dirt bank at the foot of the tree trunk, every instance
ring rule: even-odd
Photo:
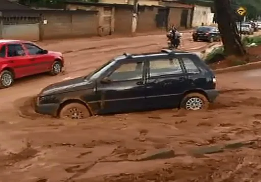
[[[261,61],[261,45],[255,47],[247,47],[247,57],[236,57],[236,56],[229,56],[226,57],[224,60],[218,61],[216,63],[212,63],[209,66],[212,69],[221,69],[227,68],[231,66],[238,66],[243,65],[250,62],[257,62]]]

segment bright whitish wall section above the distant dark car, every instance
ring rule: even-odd
[[[210,7],[195,6],[192,20],[192,27],[198,27],[203,22],[204,25],[212,24],[214,13]]]

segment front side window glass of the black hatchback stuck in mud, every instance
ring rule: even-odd
[[[143,64],[144,62],[122,64],[110,74],[109,79],[112,81],[142,79]]]

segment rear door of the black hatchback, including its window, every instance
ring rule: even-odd
[[[160,56],[148,60],[146,104],[148,108],[179,106],[188,82],[177,57]]]

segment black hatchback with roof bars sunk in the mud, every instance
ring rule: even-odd
[[[163,49],[123,54],[92,73],[55,83],[34,99],[35,111],[60,118],[183,108],[204,110],[218,96],[216,77],[196,55]]]

